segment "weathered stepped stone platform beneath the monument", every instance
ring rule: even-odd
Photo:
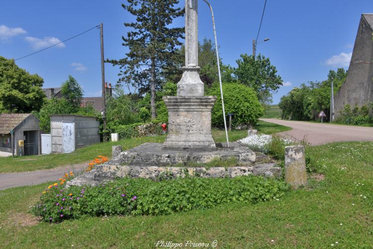
[[[235,157],[237,165],[227,167],[204,166],[213,159],[222,161]],[[135,148],[121,151],[120,146],[113,146],[113,158],[96,166],[90,172],[84,173],[67,182],[67,186],[97,186],[117,178],[148,178],[153,180],[177,177],[236,177],[260,175],[278,178],[281,168],[268,157],[257,154],[246,146],[233,142],[230,147],[216,148],[184,148],[171,149],[162,143],[144,143]],[[265,160],[263,160],[265,159]],[[200,164],[200,166],[190,166]]]

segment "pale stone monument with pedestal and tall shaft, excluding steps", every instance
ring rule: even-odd
[[[164,147],[215,147],[211,110],[216,96],[204,96],[198,67],[198,0],[185,3],[185,67],[177,96],[164,96],[169,112],[169,133]]]

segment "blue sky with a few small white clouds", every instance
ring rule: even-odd
[[[105,58],[122,58],[127,51],[121,36],[123,22],[133,20],[120,4],[124,0],[4,1],[0,10],[0,55],[19,58],[104,24]],[[236,66],[242,53],[252,53],[264,0],[210,0],[215,13],[220,55]],[[184,1],[180,2],[183,5]],[[330,69],[348,68],[362,13],[373,12],[372,0],[268,0],[257,54],[270,57],[285,86],[282,95],[307,81],[326,79]],[[184,18],[175,20],[184,26]],[[213,39],[211,15],[199,0],[199,40]],[[44,79],[44,87],[58,87],[69,74],[83,86],[85,96],[100,95],[99,30],[41,53],[17,60],[17,65]],[[106,81],[115,83],[118,68],[105,64]]]

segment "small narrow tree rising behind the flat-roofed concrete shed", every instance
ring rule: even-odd
[[[73,107],[80,106],[83,98],[83,89],[73,76],[69,75],[67,81],[62,83],[61,93]]]

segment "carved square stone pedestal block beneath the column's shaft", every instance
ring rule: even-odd
[[[169,128],[164,147],[215,147],[211,135],[211,110],[216,96],[164,96]]]

